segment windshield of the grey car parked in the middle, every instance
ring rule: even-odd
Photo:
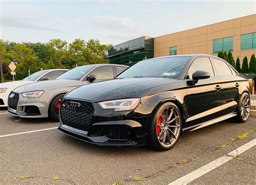
[[[80,80],[88,71],[90,71],[94,65],[85,65],[73,68],[72,70],[65,72],[64,74],[60,75],[57,80],[65,79],[65,80]]]

